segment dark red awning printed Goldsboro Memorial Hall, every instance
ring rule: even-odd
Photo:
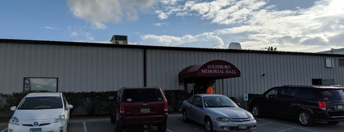
[[[188,66],[179,72],[179,79],[192,78],[192,77],[212,77],[214,79],[240,77],[240,70],[222,60],[214,60],[204,64]]]

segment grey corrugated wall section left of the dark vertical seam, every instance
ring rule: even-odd
[[[65,92],[143,86],[142,55],[133,48],[0,43],[0,93],[22,92],[24,77],[57,77]]]

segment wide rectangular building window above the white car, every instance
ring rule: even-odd
[[[58,78],[24,78],[24,92],[58,92]]]

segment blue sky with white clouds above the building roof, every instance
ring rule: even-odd
[[[344,48],[344,0],[0,0],[0,38],[320,52]]]

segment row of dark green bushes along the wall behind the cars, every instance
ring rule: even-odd
[[[101,113],[110,113],[111,106],[114,104],[114,99],[109,99],[109,96],[117,95],[117,91],[109,92],[62,92],[69,104],[73,105],[70,113],[82,107],[88,112],[88,115],[97,115]],[[13,93],[12,95],[0,94],[0,113],[11,113],[10,107],[19,104],[28,93]],[[165,97],[169,105],[169,112],[180,111],[182,101],[185,98],[184,90],[164,90]],[[259,94],[249,94],[249,99],[260,96]],[[229,97],[234,102],[234,97]],[[11,115],[11,114],[10,114]]]

